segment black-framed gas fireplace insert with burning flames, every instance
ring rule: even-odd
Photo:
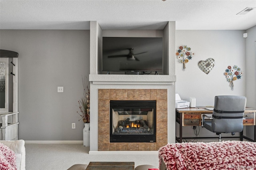
[[[110,142],[156,142],[156,101],[110,101]]]

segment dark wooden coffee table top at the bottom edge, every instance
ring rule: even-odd
[[[86,170],[134,170],[134,162],[90,162]]]

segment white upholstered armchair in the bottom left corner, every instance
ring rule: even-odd
[[[8,146],[15,152],[17,170],[25,170],[26,166],[26,151],[24,140],[0,140],[0,142]]]

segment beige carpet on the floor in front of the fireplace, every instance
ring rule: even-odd
[[[88,154],[82,144],[25,144],[26,170],[66,170],[93,161],[134,162],[158,167],[158,154]]]

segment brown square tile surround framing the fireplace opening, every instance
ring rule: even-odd
[[[98,89],[98,151],[156,151],[167,144],[167,89]],[[156,142],[110,143],[110,100],[156,101]]]

